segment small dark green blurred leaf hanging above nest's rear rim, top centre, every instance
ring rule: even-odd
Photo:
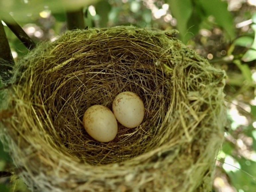
[[[108,1],[99,1],[95,5],[96,14],[100,16],[99,24],[100,27],[106,27],[108,22],[108,15],[111,11],[111,5]]]

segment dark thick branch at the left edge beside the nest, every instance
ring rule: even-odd
[[[0,77],[3,81],[9,80],[13,66],[12,52],[0,19]]]

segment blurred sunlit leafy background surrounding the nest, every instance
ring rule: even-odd
[[[256,0],[2,0],[36,43],[66,30],[65,11],[83,8],[88,27],[135,25],[178,29],[189,48],[226,71],[229,124],[216,157],[213,191],[256,191]],[[28,50],[5,26],[15,60]],[[1,85],[0,85],[1,86]],[[1,101],[1,93],[0,93]],[[0,171],[13,167],[0,143]],[[26,192],[15,175],[0,178],[1,192]]]

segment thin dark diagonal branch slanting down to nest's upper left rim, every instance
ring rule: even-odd
[[[2,14],[3,21],[10,28],[10,30],[17,36],[17,38],[26,46],[29,50],[36,47],[36,44],[30,39],[25,31],[19,26],[19,24],[12,18],[9,13]]]

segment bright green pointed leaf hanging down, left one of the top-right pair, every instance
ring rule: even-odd
[[[181,40],[187,43],[188,21],[191,18],[193,6],[191,0],[167,0],[170,5],[170,11],[177,19],[177,28],[180,31]],[[191,37],[191,36],[189,36]]]

